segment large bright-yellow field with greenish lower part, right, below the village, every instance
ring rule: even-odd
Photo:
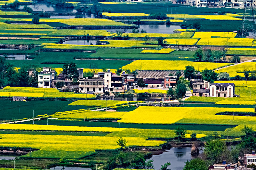
[[[207,111],[205,111],[207,110]],[[221,112],[254,112],[247,108],[144,107],[125,113],[120,123],[140,124],[254,124],[256,117],[215,115]],[[159,117],[159,115],[161,115]]]

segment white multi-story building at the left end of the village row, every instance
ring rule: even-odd
[[[52,80],[55,79],[55,71],[51,67],[43,67],[43,71],[38,73],[38,87],[50,88],[52,87]]]

